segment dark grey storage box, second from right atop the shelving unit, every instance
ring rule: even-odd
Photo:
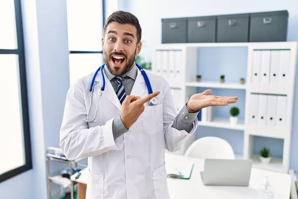
[[[218,16],[217,42],[248,42],[249,14]]]

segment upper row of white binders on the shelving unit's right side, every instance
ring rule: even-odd
[[[290,69],[290,50],[254,50],[253,84],[286,84]]]

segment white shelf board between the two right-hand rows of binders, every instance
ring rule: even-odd
[[[289,87],[281,85],[251,84],[248,88],[250,92],[260,94],[287,95],[289,93]]]

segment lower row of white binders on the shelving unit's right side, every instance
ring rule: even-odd
[[[287,96],[250,95],[249,124],[254,126],[286,127]]]

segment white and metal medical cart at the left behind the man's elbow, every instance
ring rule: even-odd
[[[75,182],[69,178],[62,177],[62,175],[51,176],[50,175],[50,161],[60,162],[68,164],[70,177],[74,174],[74,168],[85,168],[86,165],[79,164],[79,161],[84,160],[85,158],[79,158],[75,160],[68,160],[64,155],[60,148],[56,147],[48,147],[47,155],[46,155],[46,163],[47,163],[47,181],[48,181],[48,199],[51,199],[51,183],[55,183],[62,186],[69,186],[71,188],[71,199],[74,199],[74,186]]]

